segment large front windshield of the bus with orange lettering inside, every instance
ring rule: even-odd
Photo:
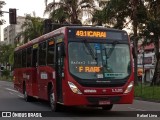
[[[69,42],[69,71],[80,79],[124,79],[131,73],[129,45]]]

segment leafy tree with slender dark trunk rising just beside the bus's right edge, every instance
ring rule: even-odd
[[[96,22],[107,24],[109,27],[123,29],[129,24],[130,30],[132,30],[135,55],[137,56],[138,40],[140,37],[144,37],[143,30],[144,24],[148,19],[147,10],[144,0],[110,0],[105,2],[102,10],[98,10],[101,14],[95,11],[94,18],[97,18]],[[143,35],[143,36],[142,36]],[[137,57],[134,57],[135,65],[135,82],[137,81]]]

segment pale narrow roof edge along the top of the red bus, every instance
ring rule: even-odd
[[[27,48],[27,47],[30,47],[31,45],[34,45],[35,43],[38,43],[38,42],[41,42],[45,39],[48,39],[50,37],[52,37],[53,35],[56,35],[56,34],[61,34],[61,33],[65,33],[65,30],[66,28],[73,28],[73,29],[86,29],[86,30],[89,30],[89,29],[92,29],[92,30],[109,30],[109,31],[119,31],[119,32],[126,32],[124,30],[119,30],[119,29],[114,29],[114,28],[106,28],[106,27],[102,27],[102,26],[64,26],[64,27],[60,27],[56,30],[53,30],[49,33],[46,33],[40,37],[37,37],[21,46],[18,46],[15,48],[15,51],[18,51],[18,50],[22,50],[24,48]]]

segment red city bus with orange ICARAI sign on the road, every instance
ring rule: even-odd
[[[123,30],[61,27],[17,47],[14,61],[14,88],[26,101],[49,101],[53,111],[133,102],[133,60]]]

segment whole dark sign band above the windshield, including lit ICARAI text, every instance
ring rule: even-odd
[[[87,40],[123,40],[128,41],[128,35],[125,31],[111,30],[111,29],[82,29],[82,28],[70,28],[68,30],[68,38],[78,38]],[[73,40],[72,39],[72,40]],[[74,39],[74,40],[76,40]],[[71,39],[69,39],[70,41]]]

